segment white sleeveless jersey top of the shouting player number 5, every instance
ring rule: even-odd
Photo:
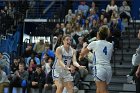
[[[60,46],[60,49],[61,49],[60,52],[61,52],[61,55],[62,55],[62,60],[63,60],[64,64],[69,67],[71,62],[72,62],[72,58],[73,58],[73,49],[70,47],[69,51],[67,52],[63,45]],[[56,68],[56,69],[57,68],[62,68],[57,61],[58,60],[56,58],[53,67]]]

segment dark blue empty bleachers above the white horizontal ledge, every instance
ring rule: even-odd
[[[58,19],[65,15],[66,1],[38,1],[29,8],[26,18]],[[61,14],[62,13],[62,14]]]

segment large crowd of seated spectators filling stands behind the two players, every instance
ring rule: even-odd
[[[15,10],[16,7],[8,3],[4,9],[1,9],[0,17],[2,18],[4,14],[8,14],[13,19]],[[54,89],[53,91],[55,91],[51,69],[55,59],[55,49],[62,44],[62,37],[66,34],[71,35],[71,45],[77,51],[77,58],[84,42],[89,43],[96,40],[96,33],[101,26],[107,26],[110,29],[108,41],[114,42],[116,48],[121,47],[119,38],[123,31],[122,21],[128,20],[129,22],[131,18],[131,9],[126,1],[123,1],[122,6],[119,8],[115,4],[115,0],[111,0],[110,4],[107,5],[106,9],[102,9],[100,14],[95,2],[88,6],[85,1],[82,1],[75,13],[72,11],[71,9],[68,10],[68,14],[65,16],[65,23],[57,23],[56,27],[54,27],[51,43],[40,39],[35,45],[28,44],[21,57],[14,58],[9,66],[11,74],[8,75],[7,73],[9,80],[4,81],[0,78],[0,86],[7,86],[7,83],[6,85],[4,83],[10,82],[10,93],[12,93],[15,82],[16,85],[23,88],[23,93],[25,93],[26,88],[30,91],[30,87],[38,87],[39,93],[42,93],[43,88]],[[0,53],[0,74],[4,73],[2,77],[5,77],[5,72],[7,72],[7,69],[5,69],[6,62],[4,61],[6,60],[2,58],[2,53]],[[86,66],[87,70],[78,70],[71,65],[74,85],[77,88],[81,85],[78,81],[84,80],[88,73],[92,73],[92,61],[93,56],[90,52],[82,61],[78,61],[80,65]],[[4,67],[3,70],[2,66]]]

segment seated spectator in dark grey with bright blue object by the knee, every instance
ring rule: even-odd
[[[22,93],[25,93],[28,86],[27,81],[29,74],[26,70],[24,70],[24,68],[24,63],[19,63],[19,70],[14,73],[12,79],[10,80],[9,93],[13,93],[13,87],[22,87]]]

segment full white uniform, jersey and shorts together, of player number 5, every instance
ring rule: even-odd
[[[62,55],[62,60],[63,60],[64,64],[69,67],[72,62],[72,58],[73,58],[73,49],[70,47],[69,51],[67,52],[63,45],[60,46],[59,48],[61,50],[60,55]],[[63,78],[64,82],[73,81],[73,77],[71,76],[70,71],[62,68],[60,66],[57,58],[55,59],[55,62],[53,64],[52,77],[53,77],[53,80],[59,80],[59,79]]]

